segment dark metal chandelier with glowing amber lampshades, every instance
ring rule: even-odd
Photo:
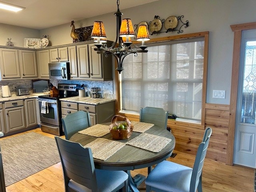
[[[97,48],[94,48],[98,54],[104,54],[106,57],[111,54],[116,58],[117,61],[117,68],[116,70],[121,73],[124,70],[122,63],[126,56],[129,54],[134,54],[137,56],[138,52],[146,53],[148,50],[145,50],[147,46],[144,44],[144,41],[150,40],[148,34],[148,26],[140,25],[138,28],[138,34],[136,37],[137,41],[141,41],[142,44],[140,49],[138,46],[134,46],[131,48],[131,37],[135,36],[134,29],[132,26],[132,21],[130,19],[123,19],[121,22],[122,13],[119,10],[119,0],[116,2],[117,4],[117,11],[114,13],[116,16],[116,41],[111,46],[108,47],[106,43],[106,32],[104,28],[104,24],[102,21],[95,21],[92,29],[91,37],[94,38],[94,44]]]

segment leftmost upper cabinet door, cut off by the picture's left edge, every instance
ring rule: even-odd
[[[18,50],[0,49],[2,79],[20,78]]]

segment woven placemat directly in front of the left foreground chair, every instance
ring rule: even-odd
[[[123,146],[125,146],[125,144],[118,141],[97,138],[84,147],[89,147],[92,149],[93,158],[106,160],[110,158],[115,152],[120,150]]]

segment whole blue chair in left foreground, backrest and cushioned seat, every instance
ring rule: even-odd
[[[128,192],[126,172],[95,169],[90,148],[58,136],[55,140],[66,192]]]

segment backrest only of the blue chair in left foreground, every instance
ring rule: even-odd
[[[65,185],[70,179],[97,191],[95,167],[92,150],[81,144],[55,136],[62,163]]]

